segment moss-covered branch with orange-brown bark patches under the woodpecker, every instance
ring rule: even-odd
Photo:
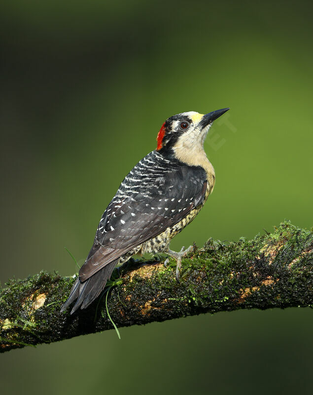
[[[273,234],[225,243],[209,240],[182,261],[135,262],[112,289],[109,313],[118,327],[237,309],[313,306],[313,232],[284,222]],[[73,277],[40,273],[0,289],[0,351],[112,328],[101,299],[70,316],[60,313]]]

